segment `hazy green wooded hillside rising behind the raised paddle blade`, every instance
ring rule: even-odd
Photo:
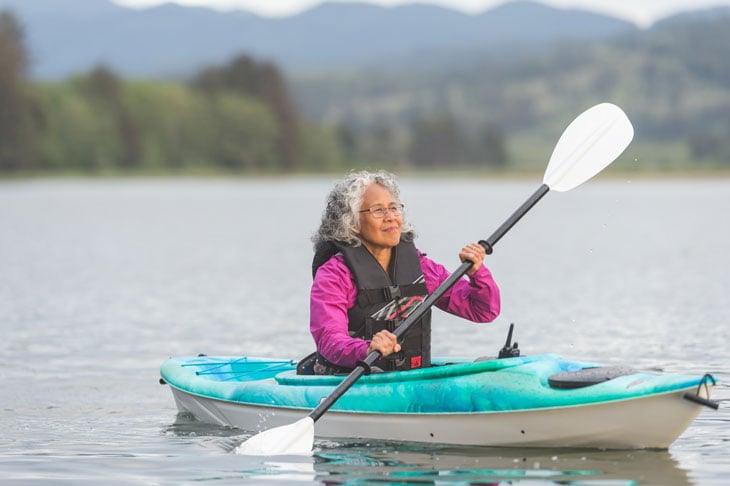
[[[633,147],[645,166],[727,164],[728,45],[730,10],[720,9],[509,59],[473,51],[450,69],[309,74],[294,76],[292,85],[308,117],[335,125],[397,131],[419,117],[448,113],[467,128],[497,126],[512,140],[512,158],[528,165],[549,153],[566,120],[612,101],[634,122]]]

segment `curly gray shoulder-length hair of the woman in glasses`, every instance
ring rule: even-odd
[[[315,251],[319,245],[339,241],[354,246],[361,244],[358,232],[360,230],[360,205],[363,194],[370,184],[379,184],[386,188],[396,201],[400,201],[400,188],[395,175],[385,172],[352,172],[337,182],[327,196],[327,206],[322,212],[322,222],[319,229],[312,236]],[[406,221],[403,214],[401,239],[413,241],[415,238],[413,225]]]

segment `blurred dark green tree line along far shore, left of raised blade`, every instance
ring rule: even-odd
[[[132,81],[99,65],[53,83],[28,76],[25,32],[0,13],[0,173],[307,172],[505,166],[497,126],[447,113],[405,127],[305,120],[281,71],[242,54],[185,81]]]

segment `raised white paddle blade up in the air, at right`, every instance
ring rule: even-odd
[[[553,150],[543,183],[569,191],[601,172],[629,146],[634,127],[621,108],[601,103],[568,125]]]

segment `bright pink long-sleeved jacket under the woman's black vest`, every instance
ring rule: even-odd
[[[450,272],[418,252],[426,288],[431,294]],[[357,288],[342,255],[335,255],[317,270],[310,296],[309,329],[317,351],[330,362],[349,368],[365,359],[369,342],[350,337],[347,311],[355,305]],[[500,310],[499,288],[487,267],[461,279],[436,307],[473,322],[491,322]]]

